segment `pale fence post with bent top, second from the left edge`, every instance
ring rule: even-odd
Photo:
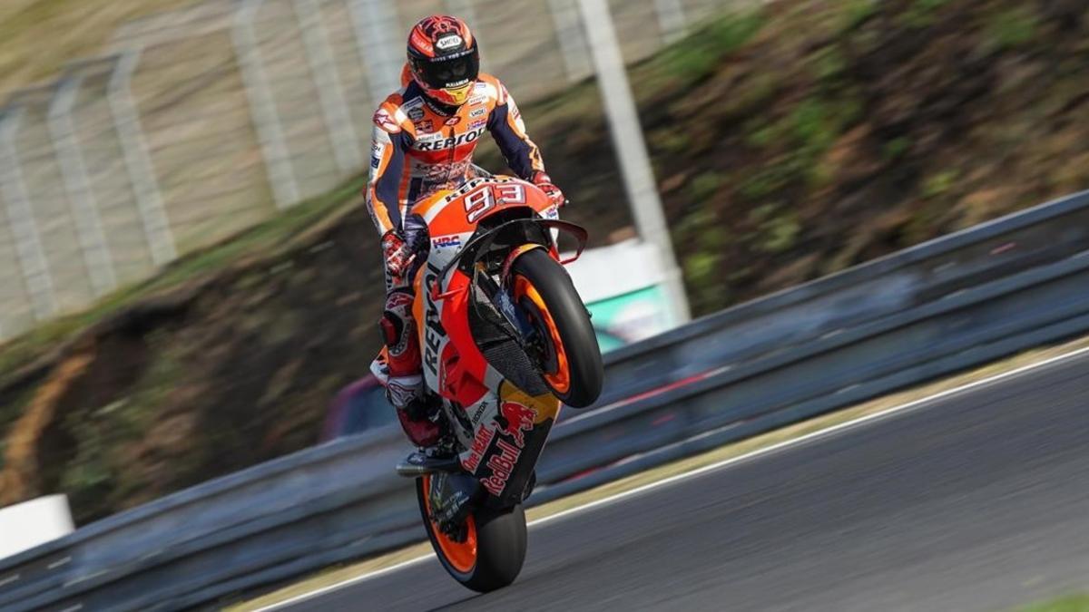
[[[87,178],[87,167],[79,152],[75,127],[72,124],[72,106],[82,83],[79,76],[69,76],[60,82],[52,103],[49,106],[48,127],[57,154],[57,162],[61,170],[61,180],[72,205],[72,218],[75,221],[76,235],[79,237],[79,248],[87,264],[90,285],[95,296],[102,296],[118,286],[113,272],[113,257],[106,234],[102,231],[102,220],[98,215],[98,203],[90,189],[90,179]]]

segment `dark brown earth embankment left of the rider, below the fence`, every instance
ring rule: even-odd
[[[372,233],[344,210],[11,375],[0,505],[64,491],[86,522],[313,444],[378,345]]]

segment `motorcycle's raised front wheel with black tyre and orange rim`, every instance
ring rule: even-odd
[[[568,406],[592,404],[604,379],[601,350],[566,270],[547,250],[534,248],[515,259],[509,286],[537,331],[528,352],[544,384]]]

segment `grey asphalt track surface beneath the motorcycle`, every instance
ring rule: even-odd
[[[510,588],[433,559],[290,610],[1003,610],[1089,588],[1089,358],[529,531]]]

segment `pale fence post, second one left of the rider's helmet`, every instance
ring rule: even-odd
[[[321,10],[315,0],[294,0],[292,4],[302,29],[307,64],[321,100],[321,111],[326,118],[337,166],[345,175],[352,174],[363,164],[363,155],[355,125],[347,112],[344,88],[337,73],[329,35],[321,23]]]

